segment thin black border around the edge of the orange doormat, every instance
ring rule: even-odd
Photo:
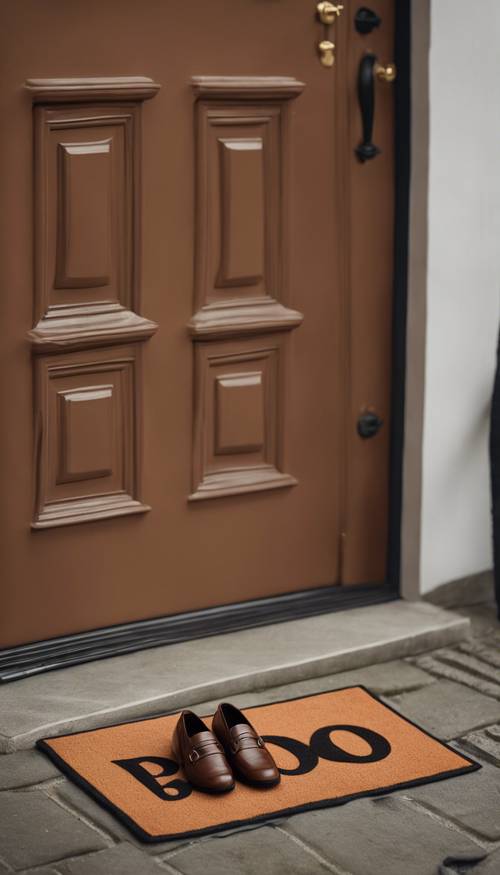
[[[345,690],[363,690],[365,693],[371,696],[372,699],[375,699],[376,702],[378,702],[380,705],[383,705],[384,708],[387,708],[401,720],[404,720],[406,723],[414,726],[415,729],[418,729],[420,732],[423,733],[423,735],[426,735],[428,738],[432,738],[433,741],[436,741],[442,747],[452,751],[453,753],[457,754],[457,756],[460,756],[462,759],[466,760],[469,765],[464,766],[461,769],[453,769],[452,771],[448,772],[439,772],[439,774],[431,775],[428,778],[415,778],[415,780],[413,781],[403,781],[399,784],[389,784],[385,787],[379,787],[376,790],[363,790],[360,793],[351,793],[348,796],[337,796],[333,799],[321,799],[318,802],[309,802],[304,805],[296,805],[293,808],[282,808],[279,811],[271,814],[261,814],[257,817],[245,818],[245,820],[231,820],[227,823],[217,824],[217,826],[206,827],[204,829],[189,830],[187,832],[178,832],[175,834],[169,833],[167,835],[161,836],[152,836],[149,833],[145,832],[142,827],[140,827],[135,822],[135,820],[132,820],[131,817],[125,814],[125,812],[123,812],[121,808],[118,808],[113,802],[110,802],[106,796],[104,796],[99,790],[97,790],[93,786],[93,784],[90,784],[88,781],[85,780],[85,778],[82,778],[79,772],[76,772],[74,769],[72,769],[72,767],[69,766],[66,761],[63,760],[62,757],[60,757],[59,754],[55,752],[55,750],[48,744],[48,742],[52,739],[68,738],[71,735],[86,735],[89,732],[105,731],[106,729],[112,729],[115,726],[126,726],[128,723],[143,723],[148,720],[158,720],[162,717],[172,717],[175,714],[180,714],[181,711],[184,709],[181,708],[178,711],[167,711],[162,714],[155,714],[152,717],[141,717],[138,720],[123,720],[119,723],[111,723],[109,724],[109,726],[101,726],[97,727],[96,729],[84,729],[81,732],[68,732],[65,735],[51,735],[47,738],[39,739],[36,743],[36,746],[39,750],[43,751],[49,757],[49,759],[52,760],[52,762],[57,766],[58,769],[60,769],[61,772],[63,772],[63,774],[67,775],[68,778],[70,778],[75,784],[77,784],[77,786],[79,786],[82,790],[88,793],[88,795],[95,799],[95,801],[98,802],[103,808],[110,811],[138,839],[140,839],[140,841],[144,842],[145,844],[157,844],[158,842],[197,838],[203,835],[223,832],[227,829],[235,829],[239,826],[253,826],[257,824],[264,824],[270,820],[275,820],[276,818],[289,817],[291,814],[300,814],[305,811],[314,811],[315,809],[319,808],[333,808],[336,805],[344,805],[346,802],[351,802],[353,799],[383,796],[386,793],[392,793],[394,790],[402,790],[407,787],[418,787],[422,784],[433,784],[436,781],[444,781],[447,778],[464,775],[468,772],[476,772],[478,769],[482,768],[480,763],[471,759],[466,754],[463,754],[461,751],[455,750],[455,748],[451,747],[451,745],[447,744],[445,741],[442,741],[440,738],[436,738],[435,735],[433,735],[431,732],[428,732],[426,729],[422,729],[422,727],[419,726],[418,723],[414,723],[413,720],[410,720],[408,717],[405,717],[404,714],[401,714],[399,711],[393,708],[391,705],[388,705],[387,702],[384,702],[380,696],[377,696],[363,684],[353,684],[347,687],[338,687],[337,689],[333,690],[323,690],[320,693],[307,693],[305,696],[291,696],[288,699],[279,699],[276,702],[261,703],[260,705],[250,705],[248,708],[244,708],[243,710],[246,712],[258,708],[268,708],[272,705],[280,705],[283,702],[297,702],[299,701],[299,699],[310,699],[313,697],[326,696],[330,695],[331,693],[340,693]],[[212,715],[204,714],[203,716],[209,717]]]

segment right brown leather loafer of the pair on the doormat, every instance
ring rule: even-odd
[[[222,744],[235,775],[254,787],[275,787],[281,775],[262,738],[245,715],[223,702],[212,729]]]

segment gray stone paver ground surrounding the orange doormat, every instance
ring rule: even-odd
[[[480,771],[259,828],[145,845],[42,754],[5,754],[1,875],[497,875],[500,625],[492,606],[467,613],[473,638],[456,647],[231,698],[245,706],[362,683],[471,754]]]

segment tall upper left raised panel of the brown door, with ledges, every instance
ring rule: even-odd
[[[35,353],[143,341],[141,101],[146,77],[30,79],[35,103]]]

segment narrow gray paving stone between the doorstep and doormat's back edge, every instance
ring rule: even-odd
[[[311,693],[323,693],[326,690],[338,690],[341,687],[350,687],[356,684],[362,684],[379,695],[382,693],[389,695],[404,690],[418,689],[433,683],[436,683],[436,678],[410,662],[397,659],[381,662],[377,665],[368,665],[353,671],[342,671],[337,674],[325,675],[325,677],[270,687],[267,690],[241,693],[238,696],[231,696],[231,701],[237,707],[244,708],[279,702],[281,699],[293,699],[296,696],[308,696]],[[218,699],[212,699],[198,704],[196,709],[200,714],[209,714],[216,709],[218,703]]]

